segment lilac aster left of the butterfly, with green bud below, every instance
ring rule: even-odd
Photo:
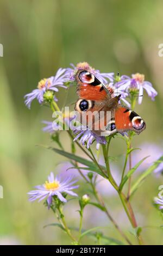
[[[32,93],[28,93],[24,96],[25,104],[28,108],[34,99],[37,99],[41,104],[43,100],[55,100],[57,101],[57,97],[54,95],[54,92],[58,92],[57,87],[63,87],[64,83],[67,82],[67,76],[65,74],[66,69],[59,69],[55,76],[51,76],[49,78],[42,79],[37,86],[37,89],[34,89]]]

